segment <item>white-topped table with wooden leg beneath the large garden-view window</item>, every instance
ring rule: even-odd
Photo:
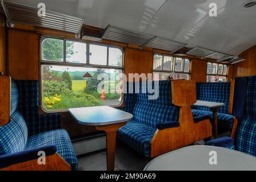
[[[117,130],[133,119],[133,115],[110,106],[81,107],[69,109],[69,112],[81,125],[95,126],[106,132],[107,170],[113,171]]]

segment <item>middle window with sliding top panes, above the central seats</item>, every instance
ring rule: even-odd
[[[153,73],[155,80],[189,80],[190,60],[156,54],[154,55]]]

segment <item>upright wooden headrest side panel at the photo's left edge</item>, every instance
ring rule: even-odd
[[[10,122],[11,113],[11,78],[0,76],[0,126]]]

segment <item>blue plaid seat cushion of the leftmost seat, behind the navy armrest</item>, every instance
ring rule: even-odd
[[[33,135],[27,139],[25,148],[26,150],[29,150],[31,148],[42,147],[49,144],[56,146],[58,154],[70,164],[71,169],[77,170],[77,156],[75,155],[69,134],[67,134],[66,130],[52,130]]]

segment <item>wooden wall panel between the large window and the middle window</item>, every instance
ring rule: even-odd
[[[125,74],[129,73],[153,73],[153,52],[139,49],[125,49]]]

